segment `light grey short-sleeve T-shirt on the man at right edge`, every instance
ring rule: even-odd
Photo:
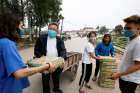
[[[130,41],[127,45],[122,57],[120,70],[126,71],[130,66],[135,64],[135,61],[140,62],[140,36]],[[140,84],[140,70],[126,76],[122,76],[121,79]]]

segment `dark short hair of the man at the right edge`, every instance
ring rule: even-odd
[[[127,17],[123,20],[125,23],[135,23],[140,25],[140,16],[138,15],[132,15],[130,17]]]

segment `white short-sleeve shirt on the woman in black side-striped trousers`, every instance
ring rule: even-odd
[[[89,53],[94,53],[94,46],[90,42],[88,42],[84,48],[83,63],[85,64],[91,64],[91,57]]]

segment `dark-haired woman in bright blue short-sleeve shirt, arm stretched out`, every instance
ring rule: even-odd
[[[16,47],[17,23],[14,15],[0,14],[0,93],[22,93],[22,89],[29,86],[27,76],[54,68],[52,64],[26,67]]]

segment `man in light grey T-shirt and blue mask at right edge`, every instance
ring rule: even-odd
[[[120,71],[113,74],[111,79],[119,78],[122,93],[135,93],[140,84],[140,16],[130,16],[124,22],[124,35],[129,37],[130,42],[125,48]]]

